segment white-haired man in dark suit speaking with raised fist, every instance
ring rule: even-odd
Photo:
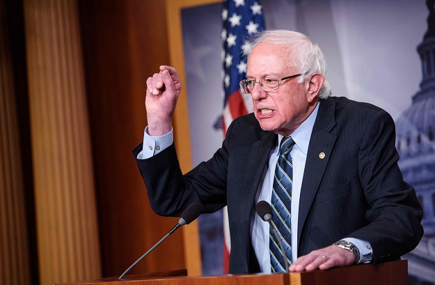
[[[240,87],[254,112],[237,118],[214,156],[185,175],[171,127],[180,79],[168,66],[148,78],[148,127],[134,155],[152,209],[180,215],[192,203],[205,212],[228,205],[230,273],[287,269],[269,224],[255,215],[260,200],[280,219],[291,272],[376,264],[413,250],[422,209],[397,166],[390,115],[330,97],[322,51],[301,33],[265,31],[248,46]]]

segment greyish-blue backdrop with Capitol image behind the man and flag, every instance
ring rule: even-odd
[[[430,88],[435,80],[435,38],[424,39],[429,6],[434,6],[429,2],[261,1],[267,29],[299,31],[319,44],[334,96],[370,102],[393,116],[400,167],[425,211],[425,237],[405,257],[411,284],[435,280],[435,91]],[[221,4],[182,10],[182,27],[191,149],[193,165],[198,165],[223,140]],[[421,57],[419,45],[427,50]],[[222,273],[221,220],[220,212],[200,217],[204,275]]]

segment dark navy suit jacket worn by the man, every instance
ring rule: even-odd
[[[345,97],[319,104],[301,186],[298,256],[354,237],[370,242],[373,263],[400,258],[420,241],[422,209],[397,166],[393,119],[376,106]],[[209,161],[185,175],[173,145],[137,160],[152,209],[177,216],[192,203],[203,204],[207,212],[228,205],[230,273],[257,271],[251,218],[277,138],[250,114],[231,124]],[[134,149],[135,157],[141,149]]]

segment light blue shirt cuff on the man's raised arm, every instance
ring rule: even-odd
[[[143,149],[137,155],[138,159],[147,159],[155,156],[159,152],[163,152],[173,144],[174,136],[173,129],[169,133],[163,136],[150,136],[148,134],[148,126],[145,127],[143,132]]]

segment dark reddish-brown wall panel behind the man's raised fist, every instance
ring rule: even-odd
[[[119,275],[176,224],[150,208],[132,148],[145,81],[168,64],[164,1],[80,1],[104,276]],[[177,231],[131,272],[186,268]]]

